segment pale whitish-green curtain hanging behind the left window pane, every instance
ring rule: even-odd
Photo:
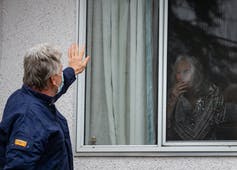
[[[152,82],[147,83],[152,81],[152,74],[147,75],[151,33],[146,33],[151,16],[145,15],[146,6],[146,0],[88,1],[86,144],[93,136],[96,144],[106,145],[154,141]]]

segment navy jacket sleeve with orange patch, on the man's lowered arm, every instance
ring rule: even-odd
[[[4,170],[33,170],[44,151],[43,127],[30,116],[21,115],[13,124],[6,146]]]

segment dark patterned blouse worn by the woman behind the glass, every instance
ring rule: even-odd
[[[225,105],[220,90],[210,85],[206,95],[200,96],[194,106],[180,96],[174,108],[171,124],[181,140],[215,139],[215,125],[225,118]]]

